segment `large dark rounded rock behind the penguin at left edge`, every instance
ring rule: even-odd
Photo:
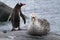
[[[0,2],[0,22],[7,21],[11,11],[12,11],[12,8]]]

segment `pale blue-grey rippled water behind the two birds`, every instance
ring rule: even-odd
[[[60,34],[60,0],[0,0],[0,4],[4,3],[7,6],[9,6],[7,7],[5,5],[7,7],[6,8],[7,11],[4,8],[8,16],[11,10],[18,2],[26,4],[25,6],[22,7],[22,13],[28,17],[26,24],[24,24],[23,20],[21,20],[21,29],[27,28],[27,25],[29,25],[29,21],[30,21],[29,18],[31,14],[35,13],[38,18],[45,18],[49,21],[51,32]],[[0,14],[1,14],[1,10],[0,10]],[[1,15],[2,16],[6,15],[5,12],[3,14],[4,15],[2,14]],[[0,20],[4,20],[4,17],[2,19],[1,15],[0,15]],[[0,22],[0,31],[11,30],[11,29],[12,29],[11,22],[8,21]]]

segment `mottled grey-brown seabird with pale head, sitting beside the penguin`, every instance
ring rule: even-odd
[[[30,35],[45,35],[50,31],[50,24],[46,19],[38,19],[35,14],[32,14],[30,24],[27,28],[27,33]]]

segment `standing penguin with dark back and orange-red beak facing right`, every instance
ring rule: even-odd
[[[11,20],[12,23],[12,31],[15,30],[15,28],[18,28],[20,30],[20,16],[22,17],[24,24],[26,23],[26,19],[24,14],[21,12],[21,7],[24,6],[25,4],[22,3],[17,3],[14,9],[12,10],[12,13],[10,14],[8,20]],[[20,13],[19,13],[20,12]]]

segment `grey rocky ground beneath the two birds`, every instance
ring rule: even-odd
[[[7,33],[0,32],[0,40],[60,40],[60,35],[49,33],[45,36],[32,36],[24,31],[8,31]]]

